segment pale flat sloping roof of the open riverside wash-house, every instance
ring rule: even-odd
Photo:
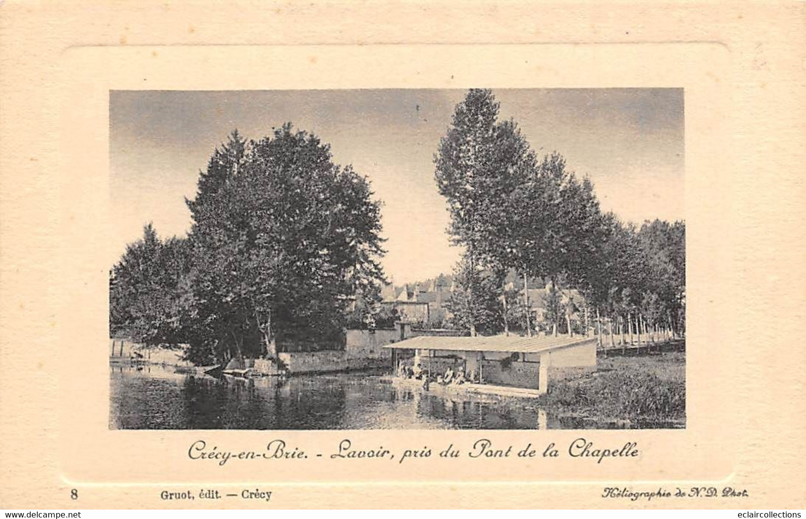
[[[434,337],[420,335],[398,343],[386,344],[384,348],[405,350],[448,350],[448,351],[508,351],[512,353],[538,353],[595,341],[584,335],[492,335],[490,337]]]

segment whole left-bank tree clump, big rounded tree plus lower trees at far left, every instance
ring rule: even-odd
[[[257,141],[234,131],[186,201],[188,237],[161,241],[149,224],[112,269],[110,332],[189,343],[197,363],[338,344],[347,305],[384,282],[372,195],[290,123]]]

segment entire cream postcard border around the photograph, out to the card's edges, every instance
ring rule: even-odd
[[[802,2],[3,2],[0,506],[802,508],[803,14]],[[637,441],[642,457],[215,471],[188,464],[188,431],[108,429],[106,349],[86,345],[107,340],[109,89],[468,86],[685,89],[686,430],[294,431],[276,434],[325,452],[343,435],[391,448],[482,434],[562,446],[584,434]],[[276,435],[202,434],[234,449]],[[600,498],[621,484],[725,484],[750,497]],[[255,485],[276,492],[270,504],[159,498]]]

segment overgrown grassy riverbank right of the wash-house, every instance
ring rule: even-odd
[[[558,375],[539,405],[579,428],[685,426],[684,351],[600,357],[594,372]]]

